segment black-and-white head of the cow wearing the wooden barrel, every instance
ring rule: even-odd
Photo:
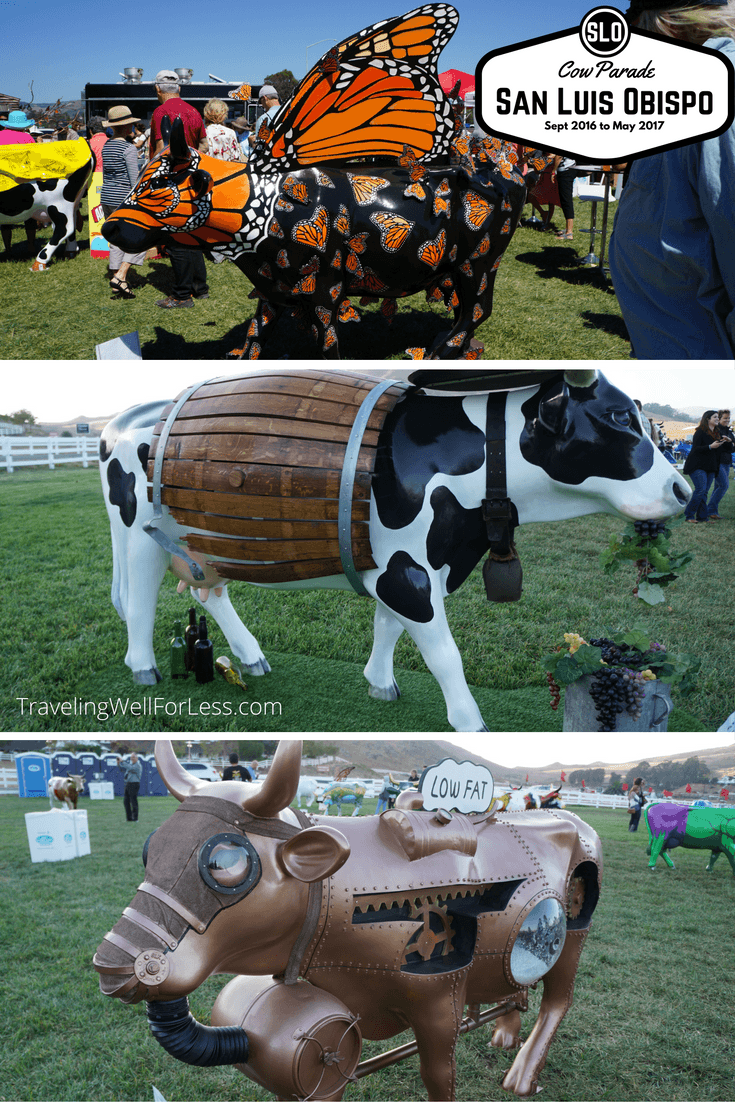
[[[597,511],[663,519],[691,497],[687,482],[655,447],[633,400],[598,371],[565,371],[521,409],[523,458],[556,488],[574,495],[579,487],[597,500]]]

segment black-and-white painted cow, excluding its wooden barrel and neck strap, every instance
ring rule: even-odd
[[[370,695],[399,695],[393,649],[407,630],[439,681],[450,724],[457,731],[486,730],[447,625],[444,597],[490,545],[482,507],[488,400],[487,393],[448,397],[414,390],[398,402],[383,425],[372,477],[369,531],[377,565],[359,575],[376,601],[375,641],[365,668]],[[183,560],[143,531],[153,515],[148,452],[165,404],[127,410],[110,421],[100,440],[112,532],[112,603],[128,625],[126,665],[141,684],[160,680],[152,638],[163,576],[171,570],[192,582]],[[591,512],[663,519],[679,512],[691,496],[642,430],[630,398],[596,371],[560,372],[541,386],[508,392],[505,423],[507,491],[521,525]],[[163,510],[159,527],[173,540],[185,536],[186,529],[166,515],[165,506]],[[206,599],[207,613],[246,670],[268,672],[223,579],[207,570],[194,595]],[[349,588],[344,575],[295,587],[306,584]]]

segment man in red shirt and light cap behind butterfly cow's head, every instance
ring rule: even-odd
[[[206,153],[207,132],[204,120],[195,107],[184,102],[180,97],[179,77],[173,69],[161,69],[156,73],[155,94],[159,97],[159,106],[151,116],[150,155],[155,156],[167,145],[167,140],[161,130],[163,119],[169,119],[171,123],[175,118],[180,118],[184,123],[187,145],[198,150],[199,153]],[[193,306],[194,299],[208,299],[209,288],[204,256],[195,249],[173,242],[166,245],[166,256],[171,260],[174,284],[171,294],[166,299],[159,299],[155,305],[163,310],[173,310],[177,306]]]

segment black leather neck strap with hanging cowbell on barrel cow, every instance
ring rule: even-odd
[[[514,543],[518,512],[508,497],[506,477],[506,399],[507,395],[487,396],[486,490],[483,501],[483,520],[490,543],[488,558],[483,564],[483,580],[488,601],[520,601],[523,573]]]

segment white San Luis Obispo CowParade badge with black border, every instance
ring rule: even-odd
[[[615,8],[579,28],[486,54],[477,116],[488,133],[592,164],[714,138],[735,117],[720,51],[639,31]]]

